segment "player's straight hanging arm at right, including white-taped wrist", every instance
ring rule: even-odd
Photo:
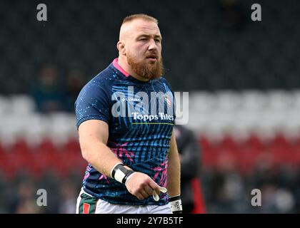
[[[172,212],[182,212],[180,200],[180,159],[177,150],[175,133],[171,135],[168,161],[168,183],[169,202]]]

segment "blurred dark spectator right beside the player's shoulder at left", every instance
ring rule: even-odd
[[[74,112],[74,103],[84,86],[84,75],[79,70],[69,71],[66,77],[66,111]]]

